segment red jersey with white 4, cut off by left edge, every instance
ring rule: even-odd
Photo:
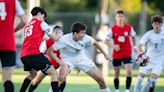
[[[14,39],[15,0],[0,0],[0,50],[16,51]]]

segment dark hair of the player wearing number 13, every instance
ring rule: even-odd
[[[41,7],[34,7],[34,8],[31,10],[32,16],[36,16],[39,12],[40,12],[41,14],[44,14],[44,18],[47,17],[47,12],[45,11],[45,9],[43,9],[43,8],[41,8]]]

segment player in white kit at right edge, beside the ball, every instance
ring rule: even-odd
[[[161,31],[162,17],[153,16],[151,24],[153,29],[144,34],[138,46],[139,52],[143,53],[142,47],[147,44],[146,55],[150,58],[150,62],[147,66],[140,67],[134,92],[147,92],[147,89],[149,92],[154,92],[156,80],[162,72],[162,64],[164,62],[164,32]],[[151,71],[151,76],[141,89],[142,80],[149,71]]]

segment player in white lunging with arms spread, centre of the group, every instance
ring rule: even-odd
[[[63,67],[61,77],[59,81],[66,79],[67,75],[73,68],[78,68],[81,71],[87,73],[99,84],[100,92],[110,92],[107,88],[104,78],[101,76],[100,71],[95,64],[86,56],[84,48],[86,45],[94,45],[98,48],[105,58],[109,60],[109,56],[98,45],[94,38],[86,35],[86,25],[82,22],[75,22],[71,28],[72,32],[63,35],[53,46],[48,49],[48,54],[51,58],[56,59],[57,62],[61,60],[66,64]],[[54,50],[60,50],[60,59],[57,59]]]

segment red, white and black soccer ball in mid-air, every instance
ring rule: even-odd
[[[135,62],[138,66],[144,67],[149,63],[149,57],[144,53],[140,53],[137,55]]]

